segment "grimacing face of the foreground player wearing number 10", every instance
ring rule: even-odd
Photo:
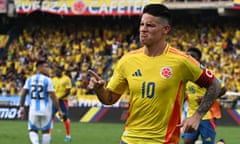
[[[168,33],[169,25],[163,25],[161,18],[144,13],[140,22],[140,42],[144,45],[152,45],[159,42],[163,35]]]

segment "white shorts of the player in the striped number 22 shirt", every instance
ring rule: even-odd
[[[52,113],[39,113],[29,111],[28,129],[32,130],[49,130],[52,127]]]

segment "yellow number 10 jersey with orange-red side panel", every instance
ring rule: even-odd
[[[149,57],[144,48],[118,62],[107,88],[123,94],[129,88],[129,115],[122,139],[154,139],[178,143],[181,108],[187,81],[199,81],[205,68],[193,58],[167,45],[162,55]],[[203,79],[201,79],[203,81]]]

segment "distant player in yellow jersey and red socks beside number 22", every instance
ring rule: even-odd
[[[72,81],[66,74],[63,74],[63,68],[56,68],[56,76],[53,77],[53,85],[56,90],[56,96],[59,100],[59,104],[64,113],[63,122],[66,132],[66,137],[64,139],[65,142],[71,141],[70,134],[70,119],[69,119],[69,107],[68,107],[68,96],[70,94],[70,90],[72,88]],[[54,112],[56,112],[54,110]]]

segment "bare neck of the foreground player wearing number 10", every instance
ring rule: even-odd
[[[151,56],[151,57],[159,56],[164,52],[166,46],[167,46],[166,42],[159,43],[158,45],[152,45],[152,46],[145,45],[144,46],[144,53],[147,56]]]

